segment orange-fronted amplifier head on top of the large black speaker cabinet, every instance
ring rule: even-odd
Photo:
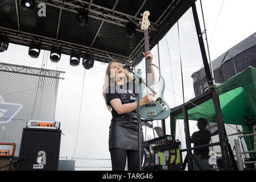
[[[60,122],[57,122],[57,121],[28,121],[27,128],[59,130]]]

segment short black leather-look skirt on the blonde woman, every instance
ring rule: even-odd
[[[143,151],[143,132],[141,129],[141,150]],[[125,150],[139,150],[137,121],[126,121],[112,118],[109,127],[109,149],[123,148]]]

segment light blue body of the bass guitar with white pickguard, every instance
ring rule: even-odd
[[[141,71],[137,72],[137,75],[141,77]],[[171,109],[170,106],[164,101],[163,93],[164,93],[165,81],[162,76],[159,77],[158,82],[155,82],[150,86],[156,92],[153,94],[153,99],[150,104],[141,106],[141,117],[144,119],[152,119],[152,120],[160,120],[167,118]],[[140,84],[139,97],[142,99],[147,94],[152,93],[150,89],[147,88],[145,84]]]

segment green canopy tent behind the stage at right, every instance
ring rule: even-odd
[[[252,131],[253,126],[256,125],[256,68],[246,68],[236,76],[222,82],[217,89],[224,123],[241,125],[243,131]],[[174,118],[171,122],[171,133],[174,136],[176,119],[183,119],[183,113],[175,114],[175,112],[171,113],[171,117]],[[208,122],[216,122],[212,98],[188,110],[189,120],[196,121],[201,117],[207,119]],[[245,137],[245,142],[247,149],[252,150],[253,137],[251,139]]]

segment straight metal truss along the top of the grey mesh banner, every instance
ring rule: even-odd
[[[0,63],[0,72],[11,72],[11,73],[19,73],[23,75],[33,75],[33,76],[42,76],[42,77],[49,77],[49,78],[63,78],[63,71],[56,71],[51,69],[40,69],[40,68],[33,68],[33,67],[26,67],[22,65],[15,65],[15,64],[7,64],[7,63]]]

